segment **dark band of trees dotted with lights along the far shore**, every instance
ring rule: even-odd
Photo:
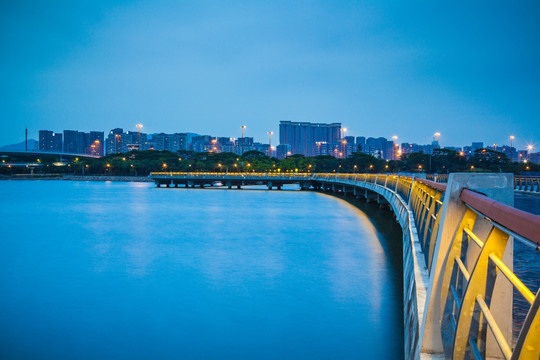
[[[59,161],[62,160],[62,161]],[[132,151],[101,158],[73,157],[58,159],[43,156],[39,159],[28,155],[11,157],[3,155],[6,174],[29,173],[31,167],[8,167],[16,161],[34,162],[34,173],[62,173],[76,175],[147,176],[150,172],[344,172],[344,173],[396,173],[421,172],[447,174],[451,172],[511,172],[534,174],[540,165],[530,162],[511,162],[501,152],[477,150],[465,157],[454,150],[436,149],[432,154],[422,152],[404,154],[399,160],[384,160],[364,153],[354,153],[345,159],[330,155],[305,157],[292,155],[284,159],[269,157],[262,152],[248,151],[239,156],[234,153],[195,153],[192,151]]]

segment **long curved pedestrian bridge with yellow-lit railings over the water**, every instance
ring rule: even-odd
[[[158,187],[297,183],[302,190],[376,201],[393,211],[403,230],[406,359],[540,359],[539,292],[513,271],[514,241],[540,250],[540,217],[512,207],[512,174],[455,173],[443,178],[446,183],[387,174],[151,177]],[[515,297],[526,304],[524,319],[513,319]]]

